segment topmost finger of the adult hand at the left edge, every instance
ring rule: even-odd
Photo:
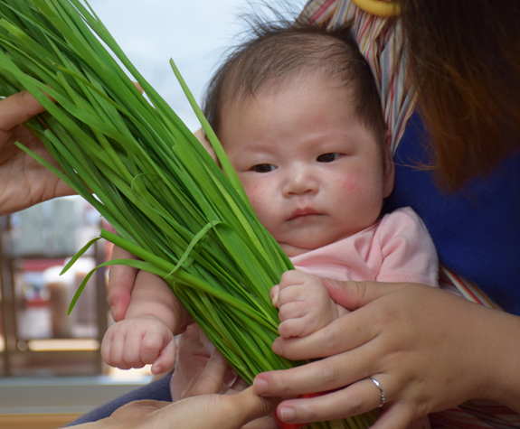
[[[0,131],[9,131],[44,111],[45,108],[26,89],[4,98],[0,100]]]

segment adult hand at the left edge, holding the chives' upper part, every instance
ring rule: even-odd
[[[0,99],[0,215],[74,193],[54,173],[14,145],[20,142],[57,166],[40,139],[22,125],[43,111],[28,91]]]

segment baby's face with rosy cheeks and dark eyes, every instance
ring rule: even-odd
[[[288,256],[368,228],[392,191],[389,150],[349,100],[344,87],[306,79],[222,112],[226,154]]]

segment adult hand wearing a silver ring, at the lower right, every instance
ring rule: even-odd
[[[486,398],[520,411],[520,319],[419,284],[330,282],[331,298],[352,312],[305,338],[279,338],[288,359],[319,359],[263,373],[262,396],[289,399],[281,421],[316,422],[360,415],[379,406],[374,429],[402,429],[429,413]]]

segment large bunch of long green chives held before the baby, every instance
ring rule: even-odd
[[[100,238],[142,259],[104,265],[135,266],[163,277],[250,383],[260,372],[301,364],[270,349],[279,319],[269,289],[293,266],[260,225],[173,61],[175,76],[223,172],[128,61],[90,5],[79,0],[0,0],[0,18],[0,95],[28,89],[47,109],[26,126],[42,139],[62,173],[19,146],[89,201],[118,232],[101,230]],[[364,429],[372,423],[373,415],[362,415],[312,427]]]

